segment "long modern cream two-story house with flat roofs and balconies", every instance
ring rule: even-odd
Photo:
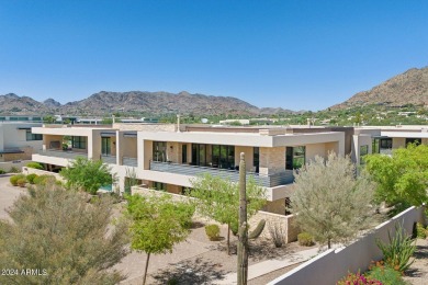
[[[315,156],[325,158],[329,151],[350,155],[360,163],[363,155],[375,149],[373,145],[379,144],[381,151],[381,146],[386,144],[383,139],[390,138],[387,130],[380,127],[181,125],[177,130],[172,124],[35,127],[33,133],[43,135],[43,151],[33,155],[33,160],[56,171],[77,156],[102,159],[110,164],[112,173],[116,173],[121,191],[126,179],[135,176],[145,187],[181,194],[191,187],[192,179],[203,173],[237,182],[239,155],[244,152],[247,176],[266,189],[266,210],[285,214],[284,206],[294,181],[293,169]],[[426,142],[428,133],[419,129],[412,134]],[[408,134],[396,132],[393,135],[392,139],[398,141],[399,135]]]

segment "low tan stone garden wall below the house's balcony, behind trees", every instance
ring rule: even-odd
[[[172,196],[173,201],[188,201],[190,198],[190,197],[187,197],[187,196],[183,196],[183,195],[179,195],[179,194],[172,194],[172,193],[167,193],[167,192],[159,192],[159,191],[156,191],[156,190],[149,190],[149,189],[147,189],[145,186],[133,186],[131,189],[131,193],[132,193],[132,195],[134,195],[134,194],[139,194],[139,195],[169,194],[169,195]],[[202,218],[202,217],[196,215],[196,218],[199,219],[199,218]],[[297,240],[297,233],[300,231],[299,231],[299,228],[296,228],[293,225],[293,220],[294,220],[294,216],[293,215],[283,216],[283,215],[278,215],[278,214],[272,214],[272,213],[259,210],[249,220],[250,230],[256,228],[258,223],[261,219],[266,220],[266,227],[264,227],[264,230],[261,232],[261,236],[260,236],[261,238],[270,239],[269,227],[277,225],[277,226],[282,227],[282,229],[284,230],[285,242],[286,243]]]

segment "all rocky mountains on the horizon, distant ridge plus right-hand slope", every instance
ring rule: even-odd
[[[362,91],[349,100],[331,106],[334,110],[363,105],[403,106],[406,104],[428,106],[428,67],[412,68],[369,91]],[[38,102],[30,96],[13,93],[0,95],[0,114],[3,115],[88,115],[105,116],[125,114],[183,114],[183,115],[272,115],[302,113],[281,107],[257,107],[233,96],[212,96],[168,92],[109,92],[101,91],[87,99],[60,104],[54,99]]]

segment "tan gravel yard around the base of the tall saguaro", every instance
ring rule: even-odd
[[[214,284],[215,281],[222,278],[223,275],[236,272],[236,237],[230,235],[232,254],[227,255],[226,233],[227,227],[221,227],[219,241],[210,241],[205,235],[203,224],[192,230],[188,239],[189,244],[204,244],[205,252],[195,254],[191,258],[181,259],[180,254],[172,252],[172,254],[164,254],[162,266],[153,266],[149,264],[149,275],[147,277],[148,284],[168,284],[168,282],[176,282],[171,284]],[[307,250],[307,247],[301,247],[296,242],[289,243],[283,248],[274,248],[269,240],[257,239],[250,241],[249,265],[273,258],[281,258],[286,254]],[[192,250],[191,247],[189,250]],[[187,252],[189,253],[189,252]],[[144,253],[140,253],[142,264],[144,264]],[[167,265],[166,265],[167,264]],[[160,264],[159,264],[160,265]],[[251,281],[250,284],[266,284],[267,282],[282,275],[292,270],[294,266],[289,266]],[[142,267],[143,269],[143,267]],[[137,277],[128,278],[123,284],[131,285],[140,282],[140,274]]]

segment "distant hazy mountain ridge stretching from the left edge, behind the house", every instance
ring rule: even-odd
[[[1,114],[67,114],[67,115],[110,115],[127,114],[193,114],[193,115],[271,115],[293,113],[281,107],[259,109],[243,100],[232,96],[212,96],[190,94],[182,91],[178,94],[168,92],[108,92],[101,91],[87,99],[61,105],[54,99],[43,102],[13,93],[0,95]]]

